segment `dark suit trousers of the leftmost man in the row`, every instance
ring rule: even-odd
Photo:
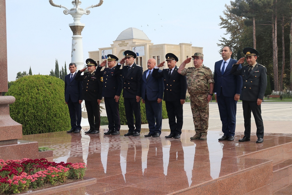
[[[81,104],[79,104],[79,102],[72,102],[70,97],[67,104],[71,121],[71,129],[81,130]]]

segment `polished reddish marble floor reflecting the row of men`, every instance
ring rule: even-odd
[[[264,143],[256,144],[255,134],[250,142],[239,143],[243,133],[236,133],[235,141],[218,141],[222,132],[209,131],[208,139],[200,141],[190,140],[194,133],[189,130],[183,131],[181,139],[164,138],[169,134],[167,130],[157,138],[144,137],[148,129],[142,129],[140,137],[124,137],[123,130],[117,136],[103,135],[107,129],[93,135],[85,135],[85,131],[23,136],[23,140],[55,149],[55,162],[86,163],[86,176],[97,178],[96,184],[62,194],[173,193],[268,162],[239,157],[292,142],[291,134],[274,133],[265,134]],[[292,147],[283,146],[282,153],[292,157]],[[277,166],[289,163],[292,162],[286,160]]]

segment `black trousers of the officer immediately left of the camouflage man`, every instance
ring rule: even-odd
[[[180,135],[183,127],[183,105],[180,101],[165,101],[170,134]]]

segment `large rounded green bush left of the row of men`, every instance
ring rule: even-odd
[[[63,80],[46,75],[19,78],[5,95],[15,97],[10,105],[13,120],[22,124],[23,135],[70,129]]]

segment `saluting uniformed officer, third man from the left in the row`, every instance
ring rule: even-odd
[[[120,74],[114,74],[116,62],[119,60],[112,54],[107,55],[108,68],[105,66],[107,61],[103,61],[96,69],[96,74],[103,77],[102,97],[104,97],[105,110],[108,116],[108,132],[104,135],[119,135],[120,134],[120,114],[119,114],[119,99],[122,91],[122,77]]]

